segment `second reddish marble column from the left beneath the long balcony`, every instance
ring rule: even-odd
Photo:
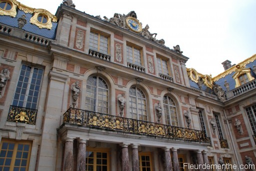
[[[78,139],[76,171],[85,171],[86,163],[86,140]]]

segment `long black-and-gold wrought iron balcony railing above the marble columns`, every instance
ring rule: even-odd
[[[211,143],[210,138],[206,137],[206,134],[200,130],[174,127],[75,108],[69,108],[64,113],[63,123],[140,135],[162,136],[166,138]]]

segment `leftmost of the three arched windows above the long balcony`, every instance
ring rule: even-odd
[[[108,113],[108,86],[101,77],[95,75],[88,77],[85,109],[99,113]]]

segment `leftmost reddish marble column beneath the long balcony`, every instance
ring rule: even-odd
[[[73,138],[65,139],[64,171],[73,171]]]

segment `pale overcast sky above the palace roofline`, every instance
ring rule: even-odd
[[[17,0],[55,14],[62,0]],[[217,76],[225,60],[238,64],[256,54],[256,0],[73,0],[90,15],[113,17],[134,10],[144,28],[190,59],[187,68]]]

